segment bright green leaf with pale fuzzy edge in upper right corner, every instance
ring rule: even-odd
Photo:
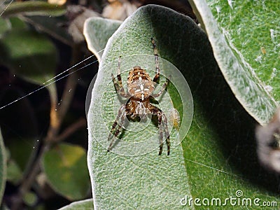
[[[235,97],[267,124],[280,102],[280,1],[209,0],[211,10],[204,0],[190,3]]]

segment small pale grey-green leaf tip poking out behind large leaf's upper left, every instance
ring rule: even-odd
[[[105,18],[88,18],[85,21],[84,35],[87,42],[87,48],[94,53],[100,62],[103,50],[108,39],[120,27],[122,22],[118,20],[109,20]]]

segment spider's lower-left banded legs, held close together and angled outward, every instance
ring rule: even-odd
[[[123,131],[122,125],[125,122],[125,116],[126,116],[125,104],[123,104],[122,106],[120,106],[120,109],[118,110],[118,116],[116,117],[116,120],[113,123],[113,126],[111,128],[111,131],[110,131],[110,134],[108,137],[108,141],[110,141],[110,139],[111,139],[111,142],[107,149],[107,152],[111,151],[115,137],[118,137],[118,134],[120,134]],[[120,118],[120,122],[119,122],[120,124],[118,124],[119,118]],[[118,127],[117,127],[117,125],[118,125]]]

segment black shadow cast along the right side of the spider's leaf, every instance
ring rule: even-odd
[[[207,35],[189,18],[172,26],[158,26],[159,18],[162,22],[170,22],[169,19],[174,15],[172,12],[163,17],[157,15],[153,8],[149,15],[155,27],[160,57],[180,69],[188,81],[195,104],[200,105],[199,111],[194,108],[194,118],[200,116],[206,119],[207,126],[218,134],[216,141],[235,174],[278,195],[279,179],[262,169],[258,163],[255,143],[257,123],[239,104],[226,83],[214,59]],[[178,38],[170,38],[169,32],[181,29],[184,29],[183,34],[178,34]]]

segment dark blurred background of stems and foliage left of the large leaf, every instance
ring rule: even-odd
[[[123,21],[149,3],[197,21],[181,0],[0,2],[3,209],[58,209],[92,197],[85,98],[98,63],[87,50],[83,23]]]

